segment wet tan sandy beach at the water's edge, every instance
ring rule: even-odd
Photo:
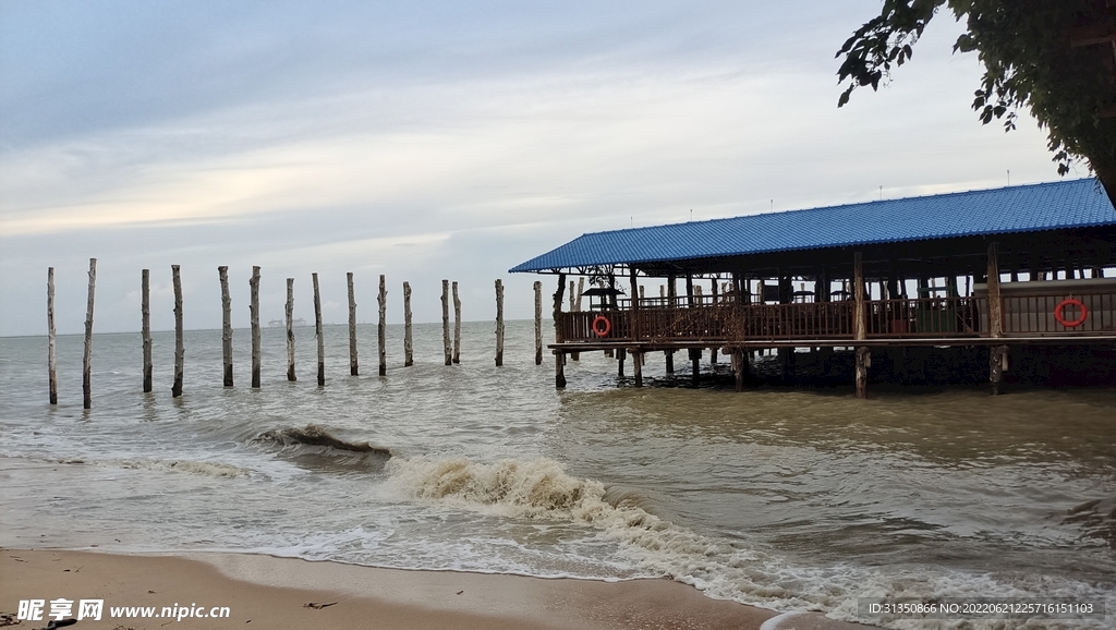
[[[857,628],[819,614],[776,612],[702,595],[668,580],[594,582],[514,575],[400,571],[263,555],[141,556],[3,550],[0,626],[20,600],[104,600],[102,619],[77,629],[493,628],[749,629]],[[164,607],[170,610],[164,611]],[[209,615],[189,615],[201,611]],[[143,609],[151,611],[144,613]],[[115,609],[115,615],[114,615]],[[119,610],[123,609],[123,610]],[[131,610],[129,610],[131,609]],[[183,615],[181,620],[176,617]],[[777,619],[778,618],[778,619]]]

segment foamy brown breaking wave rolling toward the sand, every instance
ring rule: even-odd
[[[902,574],[837,564],[801,565],[744,540],[699,534],[641,507],[631,491],[609,491],[604,484],[568,475],[555,460],[502,460],[481,464],[463,458],[396,458],[389,480],[411,497],[460,509],[511,518],[570,522],[589,536],[617,544],[648,574],[666,575],[716,599],[779,611],[812,610],[834,619],[864,622],[857,598],[941,596],[1091,596],[1112,600],[1096,589],[1069,580],[1036,579],[1013,584],[988,574],[936,567],[912,567]],[[1108,602],[1110,607],[1112,601]],[[896,629],[925,628],[925,621],[885,621]],[[936,621],[939,628],[1037,628],[1017,620]],[[1104,621],[1043,620],[1042,628],[1099,628]]]

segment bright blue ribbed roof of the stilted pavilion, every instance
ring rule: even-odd
[[[590,232],[510,271],[1098,226],[1116,226],[1116,209],[1083,179]]]

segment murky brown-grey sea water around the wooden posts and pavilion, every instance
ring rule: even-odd
[[[45,337],[0,338],[0,544],[118,552],[228,551],[375,566],[624,580],[670,576],[712,598],[857,617],[858,598],[1087,598],[1116,612],[1116,389],[732,391],[646,357],[648,386],[616,361],[533,361],[531,322],[262,331],[251,389],[248,331],[222,386],[220,331],[154,334],[143,393],[138,334],[93,340],[81,409],[81,336],[58,338],[48,404]],[[631,373],[631,365],[628,365]],[[1106,627],[1086,621],[942,627]],[[876,621],[878,622],[878,621]],[[904,621],[895,628],[918,627]]]

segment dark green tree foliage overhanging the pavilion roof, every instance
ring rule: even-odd
[[[837,52],[838,82],[848,82],[837,106],[858,87],[878,89],[943,9],[965,21],[954,52],[974,51],[984,66],[972,104],[980,121],[1011,131],[1029,108],[1058,173],[1086,161],[1116,203],[1116,48],[1105,39],[1116,32],[1116,7],[1107,0],[884,0]]]

